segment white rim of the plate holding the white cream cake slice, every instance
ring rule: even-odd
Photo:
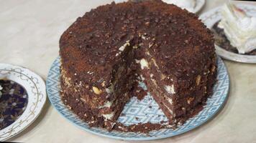
[[[237,4],[240,9],[246,11],[246,13],[250,16],[256,16],[256,6],[247,5],[247,4]],[[221,7],[217,7],[215,9],[211,9],[204,14],[201,14],[199,19],[201,19],[206,26],[211,29],[216,22],[221,20],[220,14]],[[231,61],[238,61],[244,63],[256,63],[256,56],[252,55],[243,55],[243,54],[235,54],[233,52],[227,51],[219,46],[216,47],[216,53],[224,59],[229,59]]]

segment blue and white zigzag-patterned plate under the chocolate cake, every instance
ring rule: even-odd
[[[218,82],[214,86],[214,94],[209,98],[204,106],[204,109],[199,112],[195,117],[188,119],[185,124],[178,127],[178,129],[160,129],[157,131],[152,131],[149,134],[134,133],[134,132],[108,132],[105,129],[88,127],[86,122],[79,119],[76,114],[73,114],[60,99],[60,57],[56,59],[49,71],[47,77],[47,94],[50,102],[58,110],[58,112],[68,119],[73,124],[76,124],[81,129],[91,132],[93,134],[98,134],[104,137],[111,137],[114,139],[124,139],[124,140],[152,140],[152,139],[163,139],[166,137],[173,137],[184,132],[188,132],[191,129],[199,127],[206,121],[214,117],[219,109],[224,105],[229,92],[229,75],[227,73],[226,66],[224,65],[221,58],[218,57]],[[143,86],[143,85],[142,85]],[[157,103],[152,99],[150,94],[142,99],[138,100],[136,97],[132,98],[130,102],[126,104],[122,112],[124,116],[119,117],[118,121],[125,125],[138,124],[152,122],[160,123],[161,121],[166,121],[167,118],[163,114],[162,110],[159,109]]]

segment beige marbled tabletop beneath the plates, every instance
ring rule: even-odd
[[[226,0],[206,0],[199,14]],[[0,62],[25,66],[46,79],[65,29],[111,0],[0,0]],[[250,4],[255,4],[252,2]],[[255,4],[256,5],[256,4]],[[186,134],[150,142],[256,142],[256,64],[224,60],[231,87],[224,109]],[[85,132],[60,116],[47,101],[40,117],[12,142],[126,142]]]

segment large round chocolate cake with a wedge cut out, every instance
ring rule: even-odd
[[[182,124],[211,95],[216,54],[195,14],[160,0],[107,4],[60,38],[61,97],[92,127],[113,129],[137,82]]]

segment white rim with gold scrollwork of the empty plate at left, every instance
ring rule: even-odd
[[[16,82],[27,92],[24,96],[24,98],[27,98],[27,106],[24,107],[24,112],[12,124],[0,130],[1,142],[19,134],[35,121],[42,111],[47,95],[45,82],[29,69],[11,64],[0,64],[0,77]],[[11,103],[13,103],[14,107],[17,107],[18,103],[13,101]],[[6,116],[10,116],[10,114],[6,114]]]

